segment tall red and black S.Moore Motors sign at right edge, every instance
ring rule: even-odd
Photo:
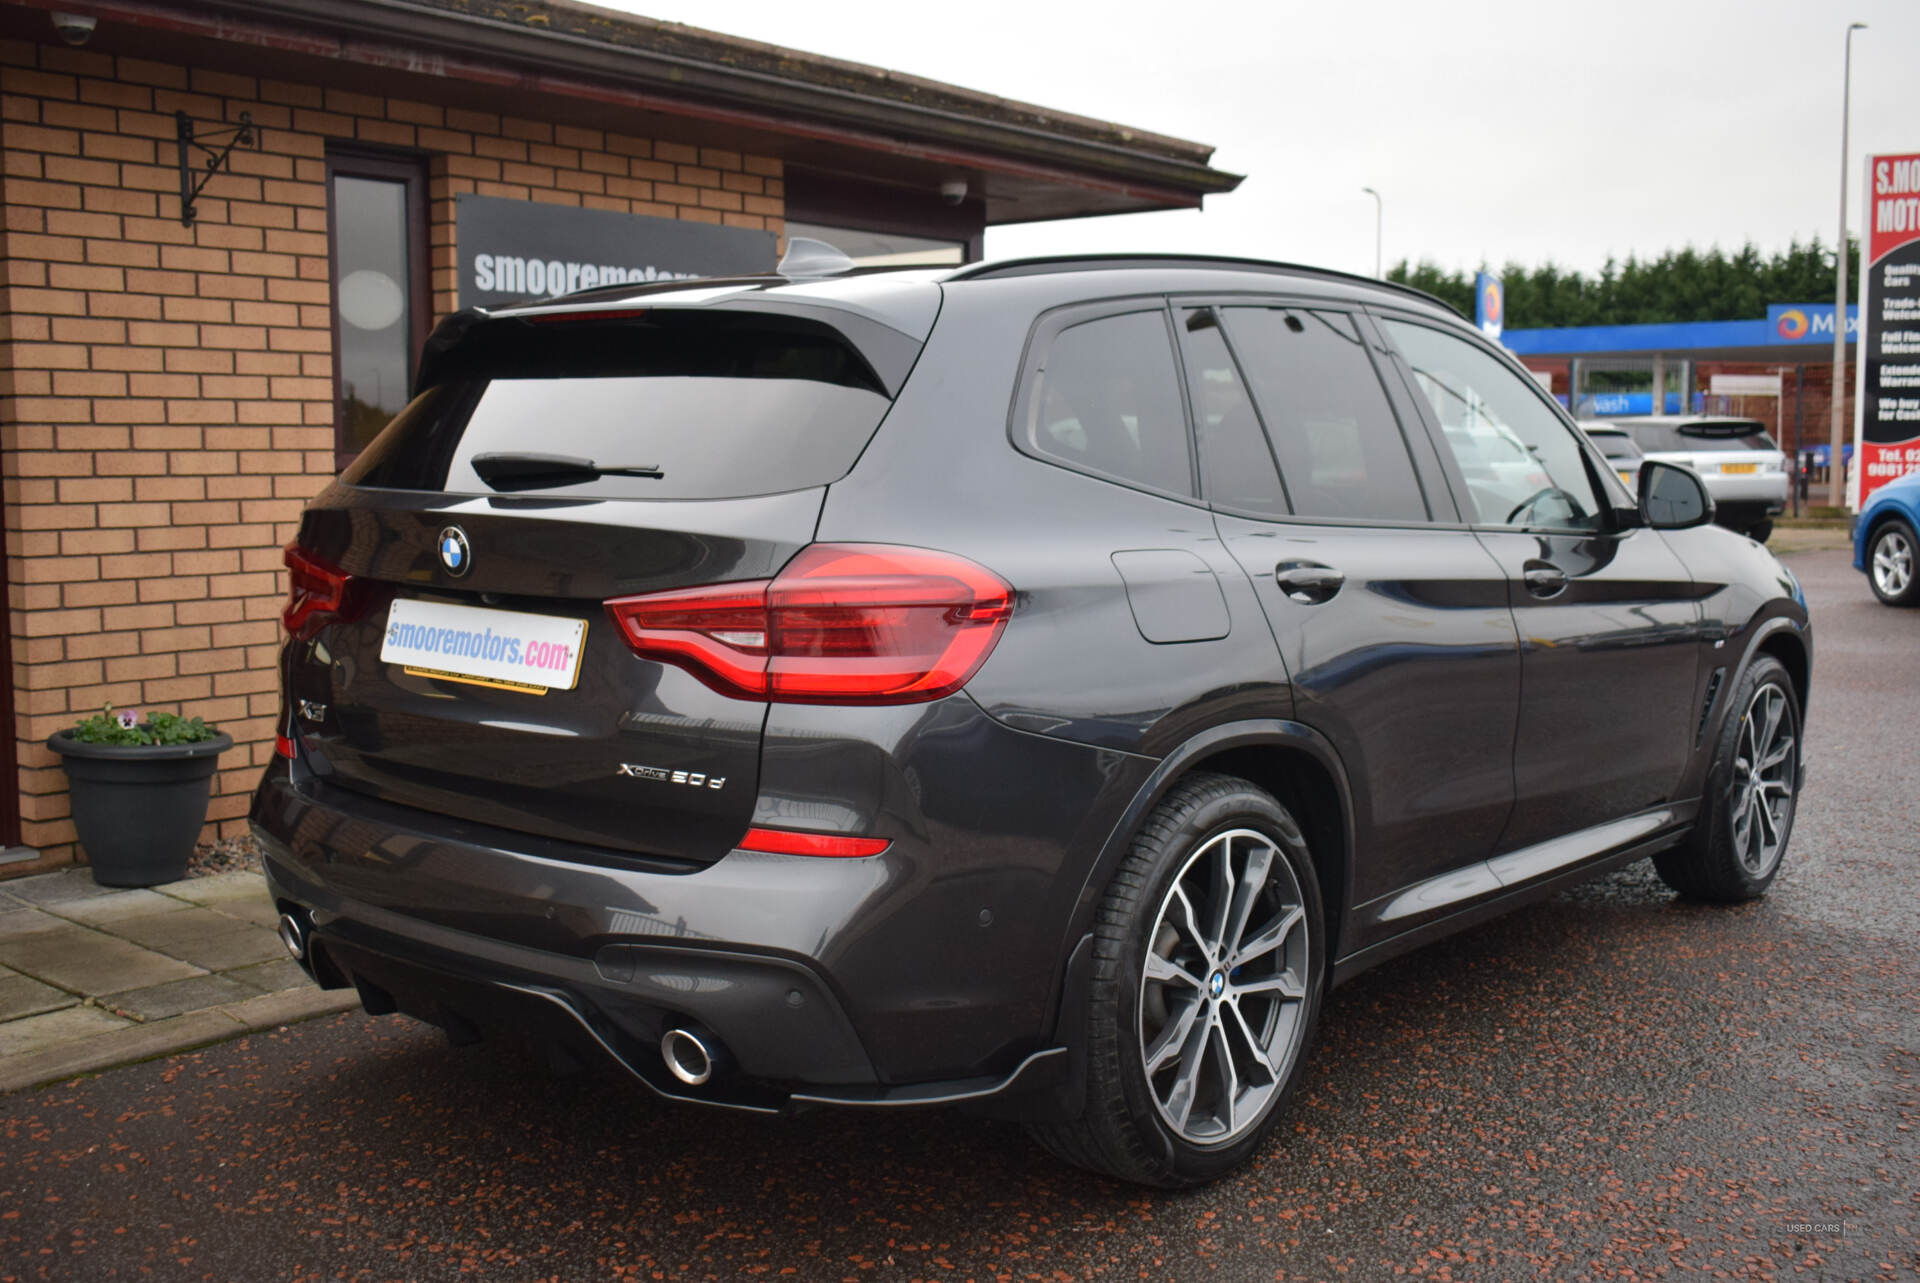
[[[1920,472],[1920,154],[1866,157],[1853,505]]]

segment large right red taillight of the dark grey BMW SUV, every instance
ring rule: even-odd
[[[952,553],[812,544],[772,580],[616,597],[636,655],[783,703],[924,703],[966,686],[1014,590]]]

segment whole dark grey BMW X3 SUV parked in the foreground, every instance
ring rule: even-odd
[[[1198,1183],[1331,985],[1642,857],[1774,880],[1811,630],[1711,515],[1327,271],[461,313],[288,547],[252,818],[369,1012]]]

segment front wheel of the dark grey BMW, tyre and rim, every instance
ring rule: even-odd
[[[1784,780],[1784,805],[1778,807],[1772,801],[1778,797],[1772,787],[1749,786],[1745,766],[1749,757],[1759,757],[1764,763],[1776,743],[1768,736],[1759,753],[1753,749],[1753,743],[1768,734],[1763,705],[1780,709],[1789,736],[1786,761],[1761,772],[1763,776],[1772,772]],[[1749,726],[1753,728],[1751,736]],[[1799,695],[1793,693],[1793,680],[1778,659],[1759,655],[1740,674],[1726,705],[1713,764],[1707,770],[1699,822],[1682,845],[1653,857],[1653,868],[1659,870],[1667,885],[1680,895],[1718,903],[1751,901],[1766,893],[1766,887],[1780,874],[1788,839],[1793,835],[1801,774],[1799,745],[1801,707]],[[1755,793],[1763,811],[1753,811]],[[1743,814],[1745,822],[1741,822]],[[1764,841],[1768,834],[1776,837],[1770,853]],[[1759,849],[1755,849],[1755,839],[1759,839]]]

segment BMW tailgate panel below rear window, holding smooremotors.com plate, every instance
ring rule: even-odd
[[[649,524],[657,505],[620,501],[309,513],[300,544],[353,576],[359,617],[290,647],[288,705],[307,763],[409,807],[718,859],[753,812],[766,705],[639,659],[601,603],[766,578],[810,538],[820,496],[659,505],[674,526]],[[445,530],[468,547],[459,580],[442,567]],[[540,665],[501,674],[515,649],[536,645]]]

